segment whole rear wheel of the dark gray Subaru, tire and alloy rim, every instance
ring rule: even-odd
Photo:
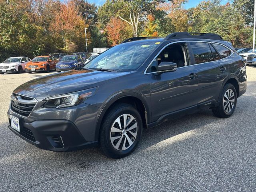
[[[220,95],[220,105],[216,109],[213,109],[212,112],[217,117],[228,118],[234,113],[236,100],[236,89],[232,84],[228,83],[224,86]]]

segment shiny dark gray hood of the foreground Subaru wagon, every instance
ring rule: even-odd
[[[26,82],[16,88],[14,93],[22,94],[30,91],[50,96],[66,94],[96,87],[112,81],[130,72],[102,72],[93,70],[71,70],[52,74]]]

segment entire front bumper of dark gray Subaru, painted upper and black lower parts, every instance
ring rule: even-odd
[[[101,108],[86,103],[68,108],[42,108],[42,101],[48,95],[36,94],[23,90],[22,95],[36,98],[38,103],[28,117],[21,116],[11,109],[7,116],[15,116],[20,122],[20,132],[10,130],[27,142],[46,150],[71,151],[98,144],[96,124],[102,112]],[[63,146],[56,146],[53,137],[60,138]]]

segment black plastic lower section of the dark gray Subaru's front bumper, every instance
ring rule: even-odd
[[[32,123],[26,123],[22,118],[19,120],[20,132],[9,125],[10,130],[41,149],[73,151],[98,145],[97,141],[86,142],[78,128],[68,120],[36,120]]]

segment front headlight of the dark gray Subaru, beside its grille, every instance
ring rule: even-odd
[[[78,91],[74,93],[52,96],[44,99],[44,108],[64,108],[80,104],[90,96],[92,96],[98,87]]]

